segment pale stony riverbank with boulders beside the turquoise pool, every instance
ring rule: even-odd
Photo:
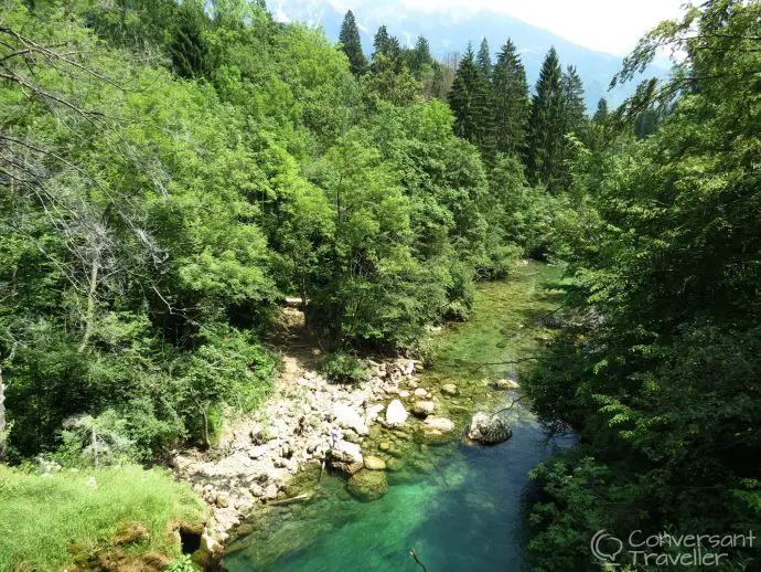
[[[420,386],[421,367],[414,360],[369,364],[372,375],[356,386],[329,383],[310,370],[290,375],[288,383],[278,383],[262,412],[237,424],[211,451],[173,458],[175,475],[211,507],[203,539],[208,552],[219,553],[231,531],[258,506],[293,496],[292,477],[307,467],[326,464],[347,476],[360,474],[349,490],[360,498],[377,495],[377,486],[369,491],[365,485],[383,479],[363,475],[385,468],[383,459],[371,455],[371,449],[393,447],[379,441],[382,431],[392,442],[411,438],[410,431],[431,442],[451,436],[454,423],[433,414],[439,399],[458,394],[455,386],[435,396]]]

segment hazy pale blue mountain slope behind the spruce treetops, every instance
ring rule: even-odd
[[[344,13],[351,8],[368,55],[373,51],[375,31],[382,24],[385,24],[388,32],[396,35],[403,45],[411,46],[418,35],[425,35],[432,53],[439,57],[452,52],[464,52],[469,41],[473,43],[473,49],[478,50],[485,36],[495,60],[496,52],[510,38],[521,50],[532,84],[539,75],[545,54],[554,45],[564,68],[569,64],[577,66],[583,81],[589,113],[594,112],[600,97],[604,96],[611,106],[618,106],[635,87],[635,84],[630,84],[608,92],[611,77],[621,68],[621,56],[589,50],[547,30],[497,12],[468,9],[422,11],[406,7],[403,0],[271,0],[268,6],[277,19],[321,25],[328,38],[334,41],[339,38]],[[647,75],[665,77],[667,73],[665,67],[653,66]]]

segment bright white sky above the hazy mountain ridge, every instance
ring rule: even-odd
[[[678,18],[686,0],[401,0],[417,10],[492,10],[548,30],[574,43],[624,55],[662,20]],[[384,2],[334,0],[335,4]]]

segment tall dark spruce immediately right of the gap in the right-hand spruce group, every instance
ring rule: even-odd
[[[564,117],[562,72],[555,47],[542,64],[528,123],[528,176],[556,192],[562,183]]]

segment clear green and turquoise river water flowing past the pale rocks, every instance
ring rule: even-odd
[[[481,286],[473,319],[442,333],[435,367],[421,384],[457,383],[463,395],[449,404],[458,411],[511,402],[515,394],[494,392],[489,382],[515,373],[512,367],[473,363],[536,349],[547,332],[532,326],[532,318],[557,307],[557,292],[547,289],[556,278],[551,268],[530,265],[511,280]],[[528,472],[570,439],[548,441],[519,404],[510,414],[513,437],[494,447],[461,439],[440,446],[404,443],[398,456],[405,466],[389,473],[389,490],[375,502],[351,498],[339,477],[318,484],[304,475],[312,499],[258,516],[249,533],[229,547],[225,566],[231,572],[411,572],[422,570],[409,555],[414,548],[428,572],[528,570]],[[460,417],[463,428],[469,415]]]

